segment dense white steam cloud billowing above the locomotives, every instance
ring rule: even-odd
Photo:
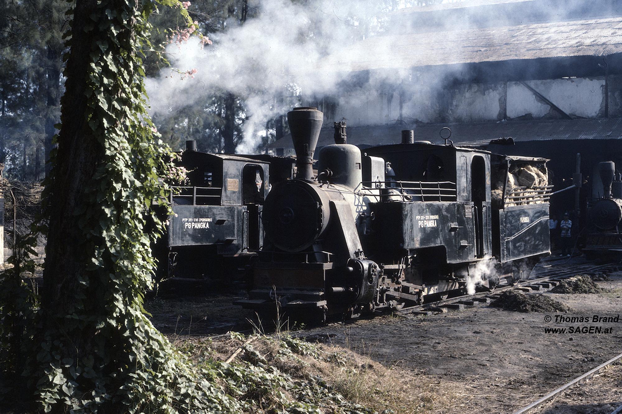
[[[233,93],[244,99],[248,118],[237,151],[253,153],[266,120],[290,110],[292,103],[283,96],[291,96],[292,90],[302,90],[306,97],[335,92],[346,73],[331,70],[324,59],[338,54],[348,60],[348,45],[374,31],[370,22],[378,29],[373,13],[387,11],[381,3],[251,1],[258,16],[211,34],[212,45],[202,47],[197,37],[190,37],[167,47],[172,67],[182,73],[167,68],[159,77],[147,78],[151,113],[166,115],[214,93]],[[367,25],[364,30],[359,22]],[[193,69],[197,72],[183,74]]]

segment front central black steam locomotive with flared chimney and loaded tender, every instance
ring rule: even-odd
[[[314,174],[322,112],[294,108],[287,121],[297,177],[267,194],[244,308],[353,318],[513,283],[550,254],[547,159],[415,142],[413,131],[361,153],[336,123]]]

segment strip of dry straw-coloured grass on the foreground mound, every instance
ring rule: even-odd
[[[224,361],[246,342],[243,336],[232,335],[211,339],[192,339],[179,343],[199,362],[206,357]],[[256,335],[243,360],[275,367],[279,372],[298,380],[322,380],[348,402],[373,412],[415,414],[442,412],[458,405],[464,386],[442,383],[439,378],[423,372],[384,367],[382,364],[351,349],[333,344],[310,344],[290,337]]]

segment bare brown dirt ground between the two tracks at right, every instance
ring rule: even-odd
[[[424,317],[385,316],[312,329],[308,334],[328,334],[333,343],[385,366],[422,372],[423,381],[429,375],[431,381],[462,388],[462,403],[437,413],[513,412],[622,353],[622,316],[620,322],[591,322],[594,315],[621,313],[622,273],[610,277],[612,281],[598,282],[606,289],[601,294],[544,293],[572,308],[558,316],[590,318],[585,323],[556,324],[555,314],[481,306]],[[546,316],[552,321],[545,322]],[[570,326],[600,326],[611,328],[611,333],[544,332],[545,327]],[[611,389],[600,402],[585,398],[581,412],[600,413],[592,409],[607,398],[613,405],[622,403],[620,394]]]

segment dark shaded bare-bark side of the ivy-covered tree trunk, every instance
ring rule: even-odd
[[[83,29],[90,25],[90,14],[96,10],[96,0],[78,0],[73,17],[72,48],[67,60],[66,92],[62,98],[62,131],[58,136],[58,151],[54,160],[55,173],[50,184],[50,222],[47,235],[44,291],[42,306],[50,316],[72,314],[78,275],[85,273],[83,230],[75,222],[74,212],[90,207],[85,204],[84,192],[93,179],[96,166],[103,156],[103,147],[86,123],[86,80],[90,73],[91,44],[96,31]],[[49,134],[48,134],[49,135]],[[49,146],[46,146],[49,154]],[[90,255],[91,252],[86,254]],[[68,338],[75,353],[85,349],[85,341],[94,332],[82,337]],[[91,350],[89,350],[91,352]]]

